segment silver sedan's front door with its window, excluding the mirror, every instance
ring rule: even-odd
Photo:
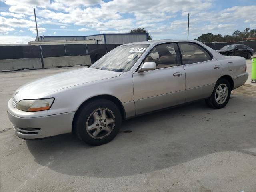
[[[185,70],[176,43],[155,46],[143,62],[155,62],[156,69],[133,74],[136,115],[185,102]]]

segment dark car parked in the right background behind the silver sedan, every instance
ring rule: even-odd
[[[222,55],[240,56],[250,59],[254,50],[246,45],[227,45],[217,50]]]

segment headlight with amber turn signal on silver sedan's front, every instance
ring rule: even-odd
[[[16,108],[22,111],[44,111],[51,108],[54,98],[24,99],[18,102]]]

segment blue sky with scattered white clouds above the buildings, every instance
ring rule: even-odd
[[[256,0],[0,0],[0,44],[44,36],[126,33],[144,27],[153,39],[190,39],[256,28]]]

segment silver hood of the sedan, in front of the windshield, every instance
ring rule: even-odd
[[[34,80],[33,82],[21,86],[14,92],[13,97],[17,102],[22,99],[43,98],[47,94],[64,88],[97,80],[113,78],[119,76],[120,74],[122,74],[122,72],[94,68],[81,68],[68,72],[62,72]]]

